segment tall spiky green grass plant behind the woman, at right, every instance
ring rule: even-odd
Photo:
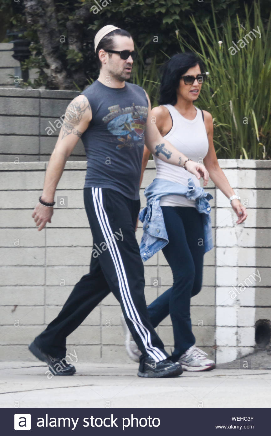
[[[253,12],[251,26],[252,11],[245,5],[245,22],[237,16],[237,28],[232,28],[229,16],[221,28],[213,14],[214,29],[208,22],[199,26],[191,17],[200,51],[177,35],[181,50],[196,52],[210,73],[198,105],[213,116],[214,144],[221,158],[271,157],[271,14],[264,26],[259,3],[254,3]]]

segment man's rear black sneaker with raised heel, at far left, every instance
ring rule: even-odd
[[[36,358],[46,362],[49,366],[49,371],[54,375],[73,375],[76,372],[74,365],[68,363],[65,358],[51,357],[37,347],[35,342],[32,342],[28,349]]]

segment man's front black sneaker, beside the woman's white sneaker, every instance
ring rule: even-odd
[[[183,373],[179,362],[172,362],[169,358],[155,362],[151,356],[143,358],[138,368],[138,377],[177,377]]]

